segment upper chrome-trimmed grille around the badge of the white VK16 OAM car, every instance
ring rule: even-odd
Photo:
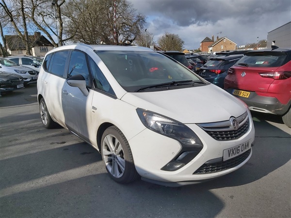
[[[234,119],[234,118],[232,118]],[[236,140],[242,137],[249,130],[249,118],[247,112],[235,118],[238,121],[238,128],[235,129],[231,119],[228,121],[197,124],[213,139],[218,141]]]

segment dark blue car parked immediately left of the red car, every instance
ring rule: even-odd
[[[228,68],[240,60],[242,56],[243,55],[229,55],[210,58],[210,60],[200,68],[198,75],[214,85],[223,88]]]

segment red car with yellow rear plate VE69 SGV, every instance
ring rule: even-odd
[[[246,52],[228,69],[224,89],[250,110],[282,116],[291,128],[291,48]]]

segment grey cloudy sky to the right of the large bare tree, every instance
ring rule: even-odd
[[[291,21],[291,0],[129,0],[147,17],[154,40],[166,31],[178,34],[184,48],[197,49],[214,35],[238,46],[267,39],[267,33]]]

